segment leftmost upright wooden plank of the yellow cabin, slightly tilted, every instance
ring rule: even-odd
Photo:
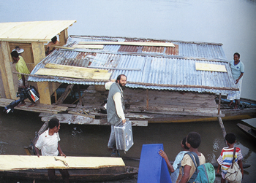
[[[12,58],[10,55],[10,46],[8,42],[0,42],[1,46],[1,78],[4,84],[4,93],[6,98],[17,99],[14,87],[14,81],[12,77]]]

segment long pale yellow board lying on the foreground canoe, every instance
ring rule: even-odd
[[[57,160],[56,160],[57,159]],[[26,169],[105,168],[125,166],[121,157],[0,155],[0,171]],[[66,164],[66,165],[65,165]]]

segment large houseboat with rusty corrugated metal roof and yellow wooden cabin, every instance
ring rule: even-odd
[[[54,30],[50,28],[53,23]],[[256,117],[255,106],[237,111],[215,100],[220,98],[220,94],[225,96],[228,91],[237,90],[230,78],[231,71],[222,44],[68,36],[67,28],[72,23],[75,20],[0,23],[0,28],[6,30],[0,37],[4,52],[0,59],[4,68],[0,77],[0,83],[4,84],[0,88],[0,95],[3,96],[0,106],[5,107],[17,99],[17,86],[12,75],[17,77],[18,73],[12,71],[9,64],[11,58],[5,55],[10,55],[10,50],[20,44],[26,45],[25,52],[28,54],[23,57],[31,71],[31,74],[24,75],[28,75],[29,82],[37,87],[40,98],[37,106],[31,108],[27,104],[15,109],[39,112],[42,121],[58,117],[62,123],[110,125],[102,109],[108,98],[104,84],[116,79],[118,74],[127,75],[125,115],[132,125],[217,121],[218,117],[222,120]],[[28,34],[26,30],[31,25],[39,34]],[[19,35],[12,32],[20,26],[23,31]],[[7,31],[9,28],[10,31]],[[61,47],[45,57],[44,43],[59,33]],[[102,44],[102,48],[88,47],[96,43]],[[61,96],[57,95],[59,89],[64,89]],[[77,93],[78,98],[65,102],[69,93]]]

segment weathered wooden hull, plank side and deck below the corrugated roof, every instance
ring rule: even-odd
[[[65,93],[64,95],[67,97]],[[43,122],[52,117],[58,117],[60,122],[68,124],[110,125],[107,122],[107,114],[102,110],[108,98],[108,90],[106,91],[104,86],[91,85],[86,90],[83,89],[83,95],[76,100],[77,104],[62,104],[65,97],[61,103],[57,102],[57,105],[37,104],[37,106],[28,107],[31,104],[29,101],[26,106],[16,106],[15,109],[39,112]],[[215,100],[218,96],[209,93],[127,87],[124,90],[124,98],[125,116],[133,126],[147,126],[148,122],[206,122],[218,121],[218,117],[222,117],[222,120],[256,117],[255,108],[234,110],[228,104],[221,104],[218,110]],[[0,98],[0,106],[7,106],[12,101]]]

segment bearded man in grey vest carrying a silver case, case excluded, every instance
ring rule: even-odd
[[[114,126],[122,120],[123,123],[126,122],[124,117],[124,86],[127,84],[127,77],[124,74],[120,74],[116,78],[116,82],[107,82],[105,84],[108,93],[108,103],[107,103],[107,114],[108,122],[111,124],[111,133],[108,141],[108,149],[113,150],[111,156],[118,156],[116,150],[116,136],[114,131]]]

